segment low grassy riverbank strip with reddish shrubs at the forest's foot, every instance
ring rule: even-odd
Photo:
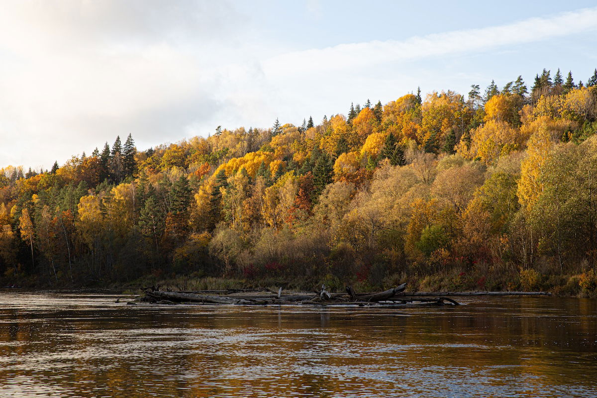
[[[1,280],[0,287],[16,286],[25,289],[76,290],[97,292],[139,293],[149,286],[161,286],[173,291],[201,291],[226,289],[278,288],[293,291],[312,291],[321,285],[330,291],[343,292],[346,285],[359,292],[380,291],[407,283],[408,292],[472,292],[472,291],[547,291],[561,297],[597,298],[597,274],[594,270],[579,273],[556,273],[554,270],[519,270],[517,267],[476,267],[473,270],[444,270],[432,274],[417,272],[394,273],[372,281],[370,278],[340,279],[331,274],[320,277],[264,277],[204,276],[201,273],[186,275],[147,274],[129,281],[79,280],[78,282],[53,283],[52,280],[11,279]]]

